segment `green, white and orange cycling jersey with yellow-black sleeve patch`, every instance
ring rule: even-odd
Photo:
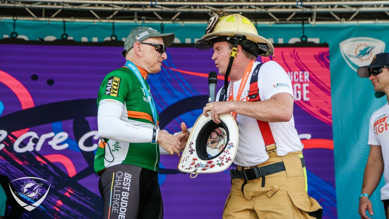
[[[150,93],[147,72],[139,67],[138,69]],[[146,97],[144,88],[134,72],[127,67],[110,72],[100,85],[97,97],[98,107],[102,104],[115,102],[120,102],[120,105],[123,106],[120,120],[133,125],[133,127],[149,128],[150,130],[155,128],[149,99]],[[132,164],[158,171],[159,145],[157,143],[128,143],[114,139],[104,139],[104,141],[105,143],[99,144],[95,155],[94,168],[98,175],[105,168],[117,164]]]

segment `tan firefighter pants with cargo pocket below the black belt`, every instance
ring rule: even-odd
[[[233,179],[231,192],[224,206],[223,219],[313,219],[321,218],[322,207],[308,197],[307,174],[301,165],[302,152],[291,152],[278,156],[270,152],[269,159],[258,165],[266,166],[284,162],[286,171],[248,180]],[[237,167],[242,170],[241,166]],[[247,169],[247,168],[245,168]]]

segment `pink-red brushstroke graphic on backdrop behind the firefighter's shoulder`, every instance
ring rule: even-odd
[[[303,55],[299,55],[299,50],[303,51]],[[281,53],[275,53],[275,58],[262,57],[262,60],[274,60],[280,64],[291,77],[295,92],[294,102],[310,115],[332,125],[328,48],[283,48]],[[296,99],[296,90],[302,93],[303,86],[308,91],[306,98]]]

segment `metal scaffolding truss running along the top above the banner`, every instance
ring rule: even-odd
[[[388,23],[389,1],[366,0],[17,0],[1,1],[1,19],[206,23],[210,9],[256,23]]]

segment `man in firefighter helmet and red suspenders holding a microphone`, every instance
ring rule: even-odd
[[[230,171],[223,218],[322,218],[321,206],[307,194],[291,80],[276,62],[255,62],[258,55],[273,55],[273,45],[244,16],[212,12],[195,47],[213,48],[219,74],[231,82],[225,81],[216,97],[219,102],[208,103],[203,115],[211,111],[219,124],[219,114],[230,113],[239,125],[238,166]]]

